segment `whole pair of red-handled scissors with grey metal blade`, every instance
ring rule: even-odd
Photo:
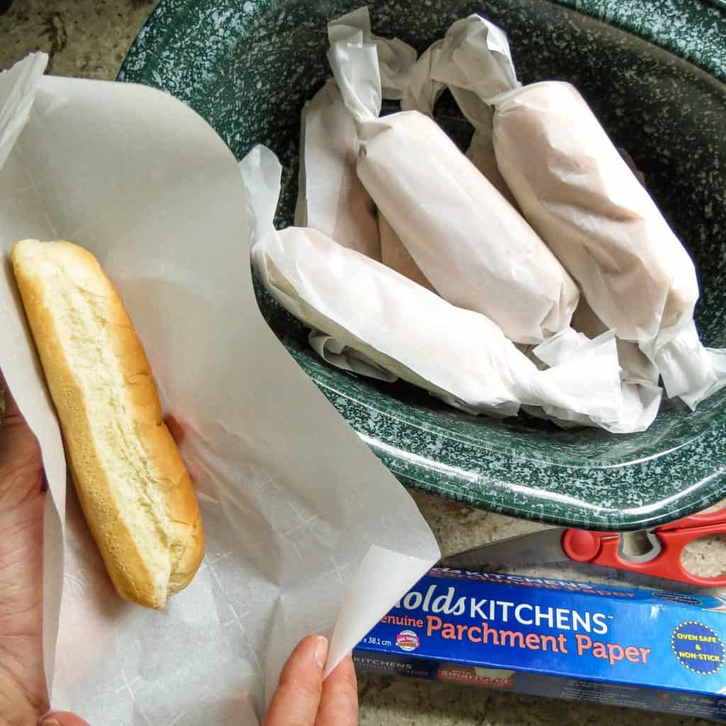
[[[574,560],[685,582],[694,587],[726,587],[726,574],[701,577],[686,570],[681,561],[683,550],[690,542],[711,534],[726,534],[726,507],[646,530],[650,548],[639,555],[624,552],[623,538],[616,532],[555,528],[475,547],[445,558],[441,564],[486,570]]]

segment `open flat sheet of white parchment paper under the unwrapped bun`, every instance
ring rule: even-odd
[[[115,595],[75,497],[65,506],[60,433],[6,266],[0,367],[49,482],[52,703],[108,726],[256,723],[295,642],[332,635],[333,667],[438,559],[436,542],[259,314],[245,244],[255,232],[219,136],[159,91],[42,78],[10,150],[19,118],[10,104],[27,108],[32,96],[32,83],[17,83],[33,68],[20,68],[0,76],[0,148],[9,152],[0,249],[67,238],[99,258],[174,418],[208,548],[163,612]]]

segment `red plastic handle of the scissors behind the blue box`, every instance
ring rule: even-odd
[[[709,516],[709,515],[703,515]],[[726,587],[726,575],[701,577],[690,573],[681,562],[681,555],[690,542],[710,534],[726,534],[726,523],[719,521],[688,530],[658,530],[661,553],[650,562],[633,562],[619,553],[620,536],[603,532],[566,529],[562,549],[571,560],[589,562],[601,567],[612,567],[629,572],[640,572],[652,577],[677,580],[695,587]]]

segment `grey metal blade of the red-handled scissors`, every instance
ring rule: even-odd
[[[567,560],[562,550],[562,527],[499,539],[441,560],[441,566],[468,570],[507,569],[523,565],[544,565]]]

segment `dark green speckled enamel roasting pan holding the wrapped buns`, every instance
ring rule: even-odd
[[[187,102],[237,158],[258,142],[272,147],[285,166],[277,221],[290,224],[300,110],[329,75],[325,25],[360,4],[161,0],[119,79]],[[726,346],[726,14],[700,0],[567,4],[384,0],[369,7],[376,33],[418,50],[457,18],[482,12],[509,33],[523,81],[574,83],[645,171],[693,254],[703,340]],[[470,129],[450,99],[437,115],[458,142],[468,141]],[[619,530],[726,497],[726,391],[695,413],[665,404],[650,431],[632,436],[470,417],[407,384],[328,367],[310,351],[303,327],[257,292],[290,354],[405,484],[519,517]]]

